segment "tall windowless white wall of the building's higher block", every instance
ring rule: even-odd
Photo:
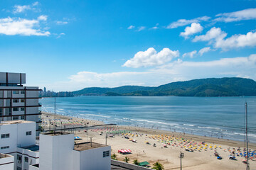
[[[40,135],[40,170],[73,169],[74,135]]]

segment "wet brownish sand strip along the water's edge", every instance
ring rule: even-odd
[[[42,115],[50,115],[54,116],[54,113],[46,113],[46,112],[41,112]],[[83,120],[85,122],[89,122],[89,125],[105,125],[103,121],[99,120],[90,120],[90,119],[85,119],[85,118],[78,118],[75,116],[70,116],[70,115],[60,115],[56,113],[56,119],[61,118],[65,120],[69,120],[72,118],[73,120]],[[131,130],[135,132],[144,132],[144,133],[149,133],[149,134],[166,134],[166,135],[175,135],[178,137],[184,137],[187,139],[191,140],[196,140],[197,142],[213,142],[219,145],[230,145],[230,147],[243,147],[245,145],[245,142],[241,142],[238,140],[228,140],[228,139],[220,139],[216,137],[207,137],[203,135],[193,135],[189,133],[183,133],[183,132],[174,132],[174,131],[169,131],[169,130],[158,130],[158,129],[151,129],[151,128],[143,128],[143,127],[136,127],[136,126],[130,126],[130,125],[112,125],[117,128],[121,128],[124,130]],[[248,143],[249,147],[256,149],[256,143],[249,142]]]

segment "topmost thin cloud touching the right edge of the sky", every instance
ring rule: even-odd
[[[242,20],[255,20],[256,19],[256,8],[247,8],[242,11],[235,11],[231,13],[219,13],[216,15],[214,21],[223,21],[225,23]]]

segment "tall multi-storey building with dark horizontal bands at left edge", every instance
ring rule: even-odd
[[[23,86],[26,74],[0,72],[0,121],[30,120],[36,122],[37,135],[41,130],[38,103],[40,89]]]

